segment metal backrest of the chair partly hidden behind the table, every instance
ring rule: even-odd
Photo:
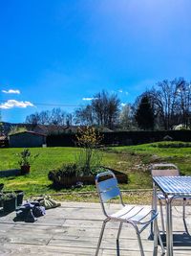
[[[179,168],[175,164],[153,164],[150,167],[152,176],[179,176]]]

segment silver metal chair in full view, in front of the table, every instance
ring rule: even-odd
[[[98,239],[96,247],[96,256],[98,255],[99,247],[103,237],[105,225],[108,221],[118,221],[119,228],[117,232],[117,244],[120,236],[120,231],[123,223],[131,224],[136,229],[136,234],[138,237],[138,245],[140,249],[140,255],[144,256],[144,251],[140,239],[140,233],[153,221],[155,221],[155,230],[154,230],[154,255],[157,255],[158,252],[158,238],[159,244],[162,249],[162,255],[164,254],[163,244],[159,235],[159,227],[157,223],[158,213],[154,210],[146,209],[142,206],[130,206],[125,205],[122,200],[120,190],[117,185],[117,178],[113,172],[108,171],[96,175],[96,189],[102,206],[102,210],[106,219],[102,223],[102,228],[100,231],[100,236]],[[106,207],[107,202],[113,198],[119,198],[121,209],[117,212],[109,213]],[[111,208],[111,207],[110,207]]]

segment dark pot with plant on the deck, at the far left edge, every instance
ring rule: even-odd
[[[16,200],[16,194],[14,192],[3,193],[1,195],[1,200],[3,204],[3,210],[5,213],[11,213],[16,209],[17,200]]]

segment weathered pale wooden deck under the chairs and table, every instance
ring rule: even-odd
[[[180,210],[180,207],[173,209],[174,230],[179,239],[174,255],[191,255],[191,237],[185,234]],[[187,228],[191,231],[191,206],[186,212]],[[34,223],[14,222],[14,217],[15,213],[0,217],[0,255],[94,255],[104,218],[99,204],[76,202],[63,202],[61,207],[47,210],[46,216]],[[137,237],[131,226],[124,225],[117,250],[117,226],[117,223],[108,223],[99,255],[139,255]],[[149,229],[143,231],[142,243],[145,254],[151,256],[153,241],[147,239],[148,234]]]

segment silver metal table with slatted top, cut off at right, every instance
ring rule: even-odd
[[[153,176],[154,209],[157,210],[157,189],[164,194],[166,201],[166,251],[173,256],[172,200],[191,197],[191,176]]]

